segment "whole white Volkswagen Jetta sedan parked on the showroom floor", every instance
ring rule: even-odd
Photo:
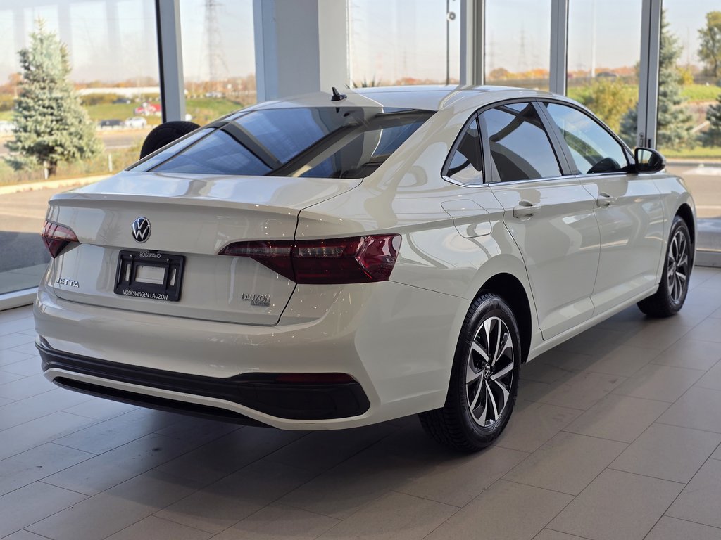
[[[420,413],[496,438],[524,362],[684,304],[694,202],[562,96],[406,87],[254,107],[50,200],[62,387],[285,429]]]

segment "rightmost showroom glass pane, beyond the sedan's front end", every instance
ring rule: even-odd
[[[694,196],[699,247],[721,251],[721,51],[716,45],[716,68],[704,54],[709,20],[721,32],[721,3],[694,0],[692,6],[663,0],[660,102],[665,104],[659,104],[657,142]]]

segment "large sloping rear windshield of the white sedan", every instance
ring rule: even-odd
[[[433,114],[418,109],[309,107],[242,112],[151,155],[134,171],[362,178]],[[191,138],[193,135],[191,135]]]

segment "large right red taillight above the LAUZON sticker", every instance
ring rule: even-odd
[[[255,240],[231,243],[220,254],[252,258],[301,284],[368,283],[389,278],[400,245],[400,235]]]

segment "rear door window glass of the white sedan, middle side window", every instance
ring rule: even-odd
[[[480,119],[486,122],[501,181],[560,176],[558,159],[533,104],[500,105],[482,112]]]

